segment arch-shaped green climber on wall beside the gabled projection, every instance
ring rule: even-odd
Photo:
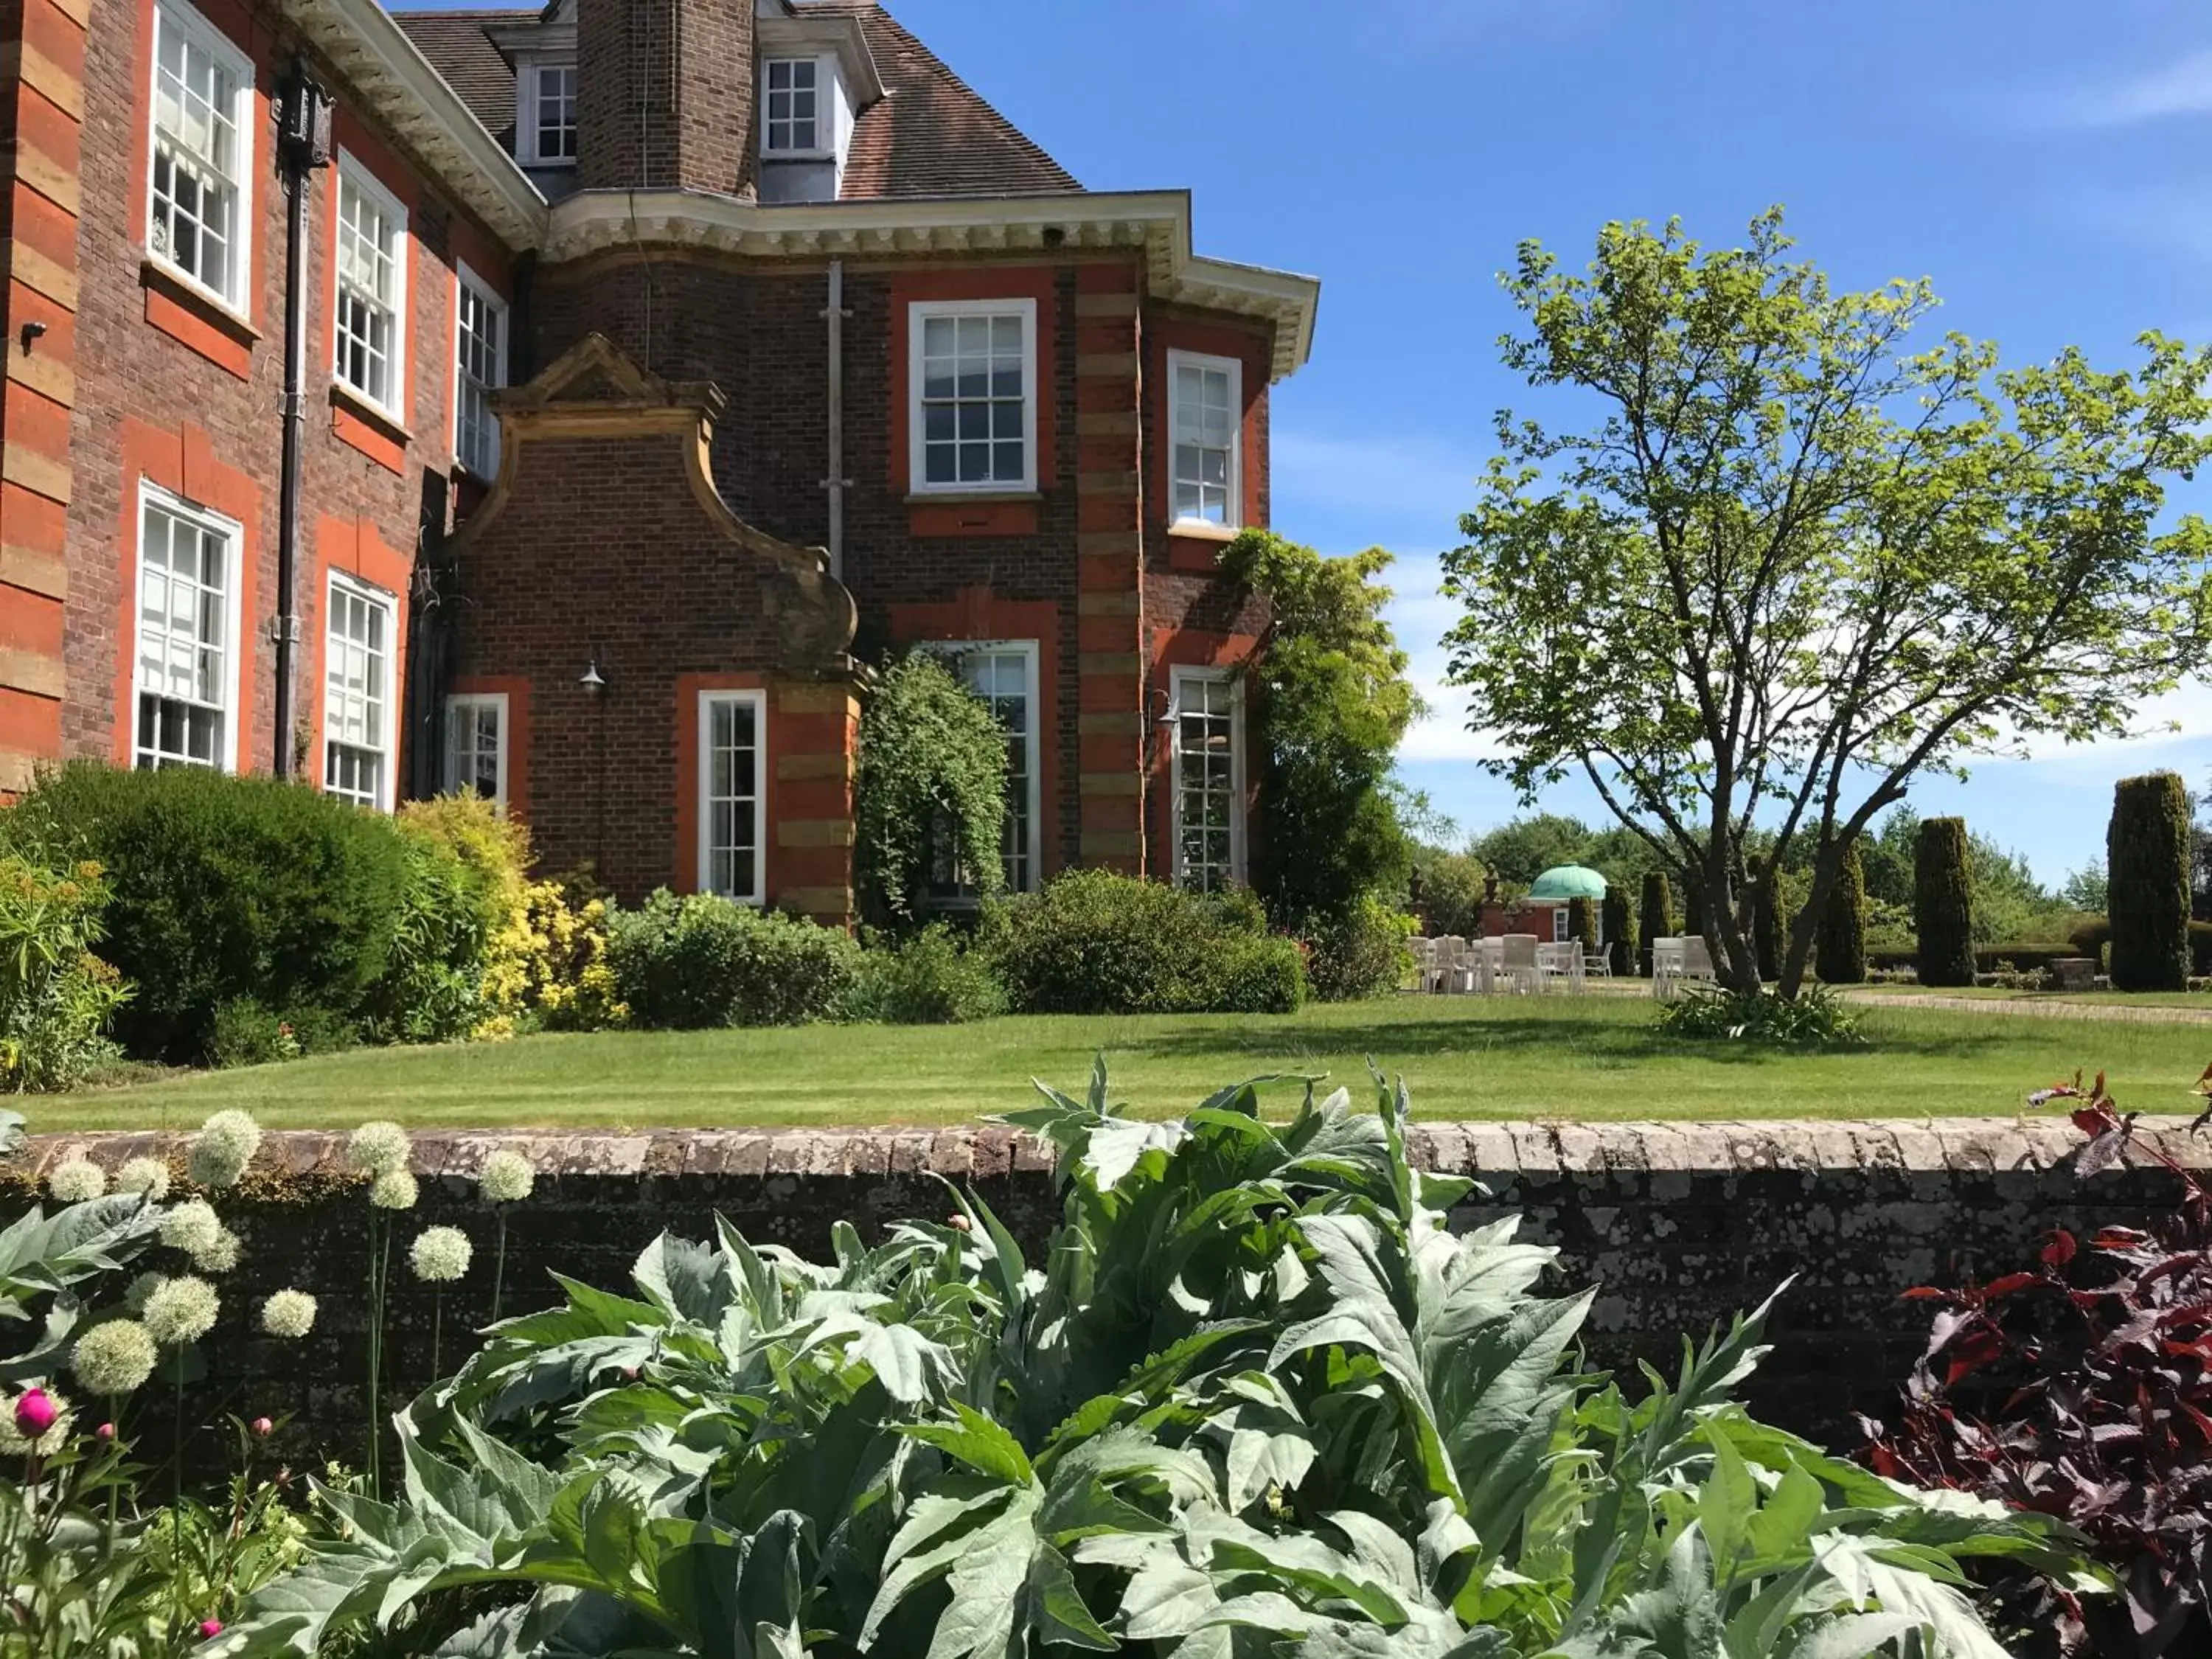
[[[916,650],[876,681],[854,821],[860,909],[878,927],[920,916],[940,847],[978,891],[1006,885],[1006,734],[936,653]]]

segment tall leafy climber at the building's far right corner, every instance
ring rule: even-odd
[[[1265,595],[1272,619],[1248,684],[1265,765],[1252,885],[1283,927],[1345,920],[1365,894],[1402,896],[1413,843],[1391,768],[1420,714],[1376,577],[1383,549],[1327,560],[1245,531],[1221,566]]]

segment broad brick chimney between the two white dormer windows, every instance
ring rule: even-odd
[[[577,0],[577,181],[752,195],[754,0]]]

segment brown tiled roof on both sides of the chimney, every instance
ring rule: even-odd
[[[732,0],[737,2],[737,0]],[[549,13],[540,13],[549,15]],[[860,111],[838,190],[845,201],[1029,197],[1082,190],[876,0],[803,0],[792,15],[856,18],[885,95]],[[484,124],[515,126],[515,69],[493,33],[529,29],[529,9],[396,11],[392,20]]]

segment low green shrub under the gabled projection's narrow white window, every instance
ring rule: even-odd
[[[608,916],[606,960],[630,1020],[657,1031],[834,1020],[860,973],[845,933],[666,887]]]

